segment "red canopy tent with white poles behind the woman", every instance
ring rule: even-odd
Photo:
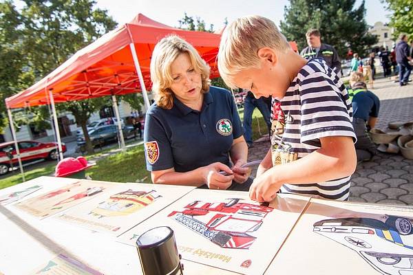
[[[149,108],[146,87],[151,85],[149,75],[151,54],[156,43],[168,34],[178,34],[191,43],[210,65],[211,78],[219,76],[215,60],[220,44],[220,34],[171,28],[153,21],[143,14],[138,14],[131,22],[108,32],[94,43],[76,52],[65,63],[32,87],[6,98],[6,107],[8,108],[19,162],[20,153],[10,109],[51,104],[54,125],[57,125],[54,102],[112,96],[114,111],[116,116],[119,116],[115,96],[140,91],[144,96],[145,107]],[[118,122],[120,140],[122,140],[124,147],[119,118]],[[59,127],[55,128],[59,155],[62,159]],[[23,173],[22,168],[21,172]]]

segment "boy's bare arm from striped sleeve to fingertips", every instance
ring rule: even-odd
[[[249,195],[271,201],[282,184],[313,184],[340,179],[354,173],[357,157],[352,137],[321,137],[321,148],[288,164],[273,166],[254,179]]]

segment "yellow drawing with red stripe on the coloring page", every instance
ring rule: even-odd
[[[149,206],[160,197],[162,196],[156,195],[155,190],[145,192],[128,189],[110,196],[106,201],[102,201],[89,214],[98,217],[98,219],[125,216]]]

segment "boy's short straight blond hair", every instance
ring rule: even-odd
[[[286,52],[290,44],[273,21],[259,15],[241,17],[226,26],[218,52],[218,69],[226,85],[235,89],[233,76],[243,69],[258,68],[263,47]]]

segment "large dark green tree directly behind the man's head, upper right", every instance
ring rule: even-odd
[[[365,55],[377,43],[377,36],[368,32],[364,1],[354,8],[356,0],[291,0],[284,7],[282,33],[288,41],[296,41],[299,49],[307,46],[306,32],[316,28],[321,40],[330,44],[346,57],[349,49]]]

